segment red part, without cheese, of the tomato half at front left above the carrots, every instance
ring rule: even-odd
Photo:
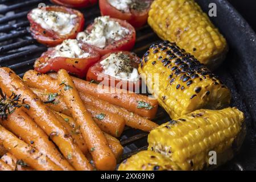
[[[40,73],[47,73],[49,71],[59,71],[65,69],[69,73],[85,77],[88,69],[100,59],[100,54],[90,47],[83,46],[82,49],[90,54],[86,58],[70,58],[70,57],[55,57],[51,55],[55,52],[54,48],[49,48],[44,52],[39,59],[35,61],[34,68]]]

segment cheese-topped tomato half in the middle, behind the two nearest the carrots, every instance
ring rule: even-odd
[[[135,37],[135,29],[126,21],[100,16],[77,35],[77,40],[92,46],[104,56],[113,51],[130,51],[135,44]]]

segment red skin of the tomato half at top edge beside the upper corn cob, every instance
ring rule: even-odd
[[[148,0],[148,3],[152,3],[152,1]],[[99,0],[99,5],[102,16],[108,15],[112,18],[126,20],[135,28],[142,27],[144,24],[147,23],[148,11],[150,10],[150,7],[141,12],[134,10],[130,12],[122,12],[110,5],[108,0]]]

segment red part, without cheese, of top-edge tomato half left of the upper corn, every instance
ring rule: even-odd
[[[100,0],[99,4],[100,4],[101,15],[108,15],[112,18],[126,20],[135,28],[141,27],[147,22],[148,11],[150,10],[150,5],[153,2],[153,0],[136,0],[136,1],[139,3],[139,6],[137,9],[134,6],[134,8],[130,7],[129,12],[124,12],[110,5],[108,0]]]

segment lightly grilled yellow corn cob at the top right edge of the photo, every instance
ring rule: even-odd
[[[194,0],[156,0],[148,24],[164,40],[176,42],[209,69],[225,58],[228,45]]]

